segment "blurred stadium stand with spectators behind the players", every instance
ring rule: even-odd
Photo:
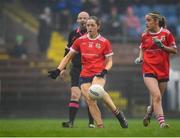
[[[0,117],[67,118],[69,78],[51,80],[64,54],[77,14],[85,10],[102,21],[102,34],[110,39],[114,66],[106,90],[128,117],[142,118],[149,104],[141,68],[134,64],[144,15],[158,11],[180,49],[179,0],[0,0]],[[180,54],[171,56],[171,77],[164,96],[165,114],[180,116]],[[100,103],[103,117],[112,113]],[[81,100],[78,117],[87,117]]]

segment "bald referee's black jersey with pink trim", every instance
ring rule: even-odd
[[[67,44],[67,47],[65,48],[65,53],[64,53],[64,56],[67,55],[67,53],[69,52],[70,50],[70,47],[72,46],[72,44],[74,43],[74,41],[81,37],[82,35],[84,35],[85,33],[87,32],[87,30],[80,30],[79,28],[73,30],[70,34],[69,34],[69,37],[68,37],[68,44]],[[75,57],[72,59],[72,64],[73,66],[75,67],[81,67],[81,54],[78,53],[75,55]]]

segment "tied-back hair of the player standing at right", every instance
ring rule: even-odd
[[[159,20],[159,27],[166,28],[166,18],[161,16],[159,12],[150,12],[148,15],[151,16],[154,20]]]

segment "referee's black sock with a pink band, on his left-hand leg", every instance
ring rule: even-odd
[[[79,102],[78,101],[70,101],[70,103],[69,103],[69,122],[71,122],[72,124],[74,123],[78,109],[79,109]]]

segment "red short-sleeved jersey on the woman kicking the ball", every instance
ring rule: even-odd
[[[73,43],[71,50],[81,53],[81,77],[100,73],[105,68],[105,58],[113,55],[110,42],[101,35],[90,39],[86,34]]]

